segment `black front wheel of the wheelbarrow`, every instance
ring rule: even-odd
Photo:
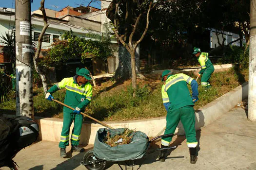
[[[107,161],[97,158],[93,154],[93,150],[87,151],[83,156],[81,165],[84,165],[88,170],[103,170]]]

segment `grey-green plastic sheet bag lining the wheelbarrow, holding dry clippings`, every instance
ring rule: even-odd
[[[110,136],[122,134],[126,128],[107,129],[100,128],[94,142],[94,155],[107,161],[125,161],[141,158],[149,147],[149,139],[143,132],[134,132],[131,143],[111,147],[104,143],[107,132]]]

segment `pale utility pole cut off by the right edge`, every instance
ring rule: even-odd
[[[249,91],[248,119],[256,121],[256,2],[251,1],[250,10],[250,57],[249,57]]]

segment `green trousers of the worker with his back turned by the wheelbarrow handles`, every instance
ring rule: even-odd
[[[179,109],[175,109],[167,112],[166,116],[166,129],[164,135],[173,134],[177,128],[179,120],[183,124],[187,145],[189,148],[197,147],[197,137],[195,130],[195,110],[193,106],[185,106]],[[164,146],[169,146],[172,141],[171,137],[163,137],[161,144]]]

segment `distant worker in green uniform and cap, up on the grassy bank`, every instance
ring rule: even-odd
[[[198,62],[202,67],[199,73],[197,74],[198,78],[202,75],[201,85],[207,88],[211,87],[209,79],[211,78],[214,72],[214,66],[210,59],[208,58],[208,53],[201,52],[199,48],[195,48],[193,54],[195,54],[196,57],[198,57]]]

